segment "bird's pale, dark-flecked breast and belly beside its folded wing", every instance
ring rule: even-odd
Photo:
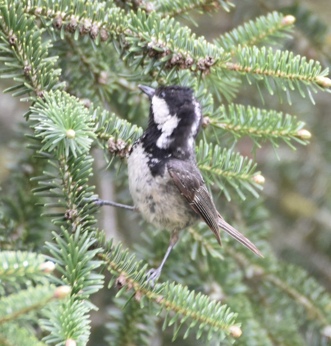
[[[128,158],[129,188],[133,202],[143,217],[158,228],[179,230],[199,219],[165,170],[152,176],[148,158],[136,147]]]

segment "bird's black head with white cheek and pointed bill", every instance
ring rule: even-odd
[[[151,100],[149,129],[154,129],[161,149],[194,148],[202,125],[201,106],[193,90],[185,86],[160,86],[155,90],[139,85]],[[157,135],[156,135],[157,133]]]

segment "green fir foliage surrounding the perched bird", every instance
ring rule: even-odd
[[[0,0],[0,75],[14,81],[4,92],[29,103],[25,158],[33,156],[40,167],[24,186],[28,200],[1,199],[1,344],[86,345],[90,312],[103,308],[91,296],[104,287],[105,269],[111,274],[111,345],[150,344],[159,324],[164,335],[170,327],[173,341],[190,345],[200,338],[213,345],[308,345],[304,329],[330,340],[330,295],[302,268],[273,255],[268,215],[255,200],[264,178],[252,159],[228,145],[245,136],[255,149],[266,141],[275,149],[280,141],[292,149],[308,144],[311,134],[296,116],[235,104],[234,98],[247,80],[262,100],[265,90],[280,101],[285,95],[289,104],[290,92],[314,103],[313,93],[330,92],[328,69],[270,47],[290,37],[291,15],[260,16],[214,43],[174,18],[232,7],[224,0]],[[232,223],[264,259],[227,235],[221,249],[198,224],[182,232],[160,282],[151,287],[145,272],[159,263],[168,235],[156,236],[146,226],[148,244],[135,246],[136,255],[95,228],[94,153],[103,151],[104,165],[117,171],[119,196],[128,194],[122,163],[148,113],[138,83],[193,88],[204,115],[199,168],[211,192],[235,201],[239,216]],[[217,193],[214,199],[221,202]],[[12,241],[19,227],[8,210],[24,210],[29,202],[38,215],[25,218],[43,220],[34,227],[45,225],[52,238],[36,240],[29,247],[35,252],[21,252],[28,245],[23,237]],[[45,263],[55,263],[56,275]],[[33,335],[37,325],[43,333]]]

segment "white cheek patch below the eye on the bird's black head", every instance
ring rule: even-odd
[[[177,127],[179,119],[176,114],[170,114],[167,102],[158,96],[153,96],[152,98],[152,109],[155,124],[157,124],[157,128],[162,132],[156,145],[160,149],[165,149],[171,143],[169,136],[171,136],[173,130]]]

